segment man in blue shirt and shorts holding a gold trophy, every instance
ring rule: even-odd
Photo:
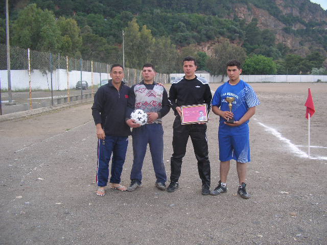
[[[241,63],[238,60],[227,63],[229,81],[216,90],[212,102],[213,112],[220,116],[218,131],[220,181],[211,194],[227,192],[226,182],[230,160],[234,159],[239,176],[238,194],[248,199],[250,194],[247,193],[245,184],[246,163],[250,161],[248,122],[255,113],[255,106],[260,105],[260,101],[253,88],[240,79],[241,72]],[[231,112],[226,97],[235,98],[235,101],[231,102]],[[227,123],[229,118],[235,121]]]

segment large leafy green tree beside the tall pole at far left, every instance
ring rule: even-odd
[[[61,45],[54,14],[37,8],[36,4],[30,4],[19,12],[12,33],[12,45],[22,48],[57,53]]]

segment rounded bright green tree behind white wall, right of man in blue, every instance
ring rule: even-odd
[[[271,75],[276,73],[276,64],[272,58],[253,55],[246,58],[242,72],[244,75]]]

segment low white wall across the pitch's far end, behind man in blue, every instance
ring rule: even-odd
[[[210,76],[211,83],[220,83],[222,75]],[[327,82],[326,75],[241,75],[241,79],[247,83],[314,83],[317,80]],[[224,82],[228,81],[228,77],[224,77]]]

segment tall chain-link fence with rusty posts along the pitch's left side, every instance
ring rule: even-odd
[[[124,72],[127,85],[141,82],[141,70],[125,68]],[[109,79],[110,64],[14,46],[10,47],[8,72],[7,46],[0,44],[1,115],[76,100],[82,102],[94,96],[98,87]],[[169,75],[157,74],[155,81],[169,83]]]

